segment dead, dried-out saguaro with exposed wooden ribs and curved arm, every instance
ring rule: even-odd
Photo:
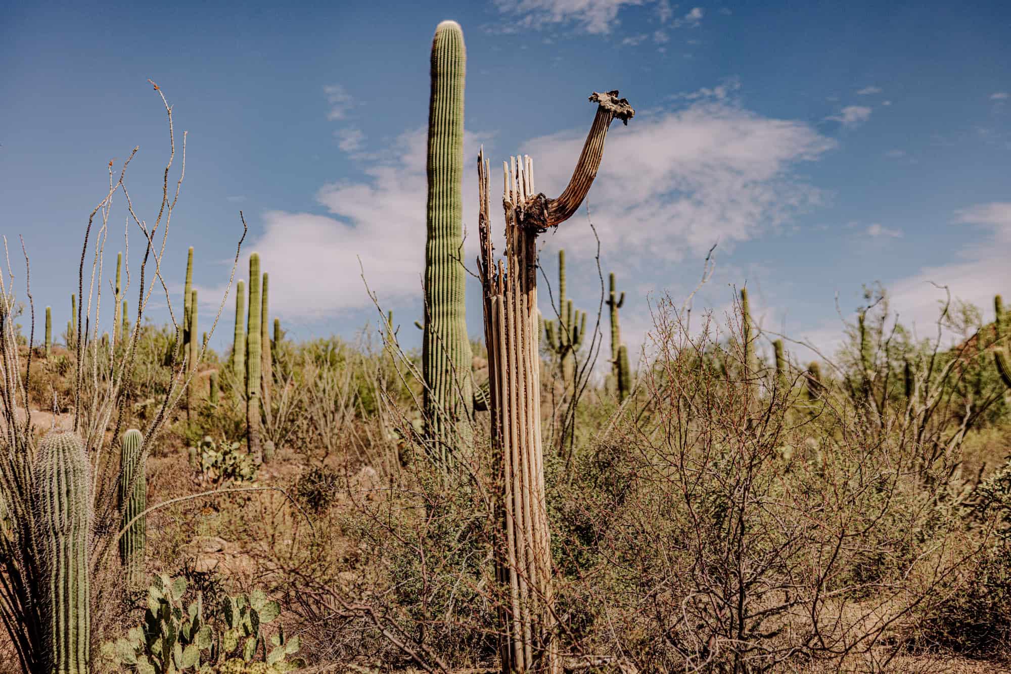
[[[537,308],[537,235],[575,213],[601,165],[611,121],[635,114],[618,92],[594,93],[596,116],[568,187],[557,199],[534,190],[529,157],[504,165],[505,258],[491,245],[490,185],[483,150],[477,158],[478,268],[488,346],[491,441],[495,454],[495,575],[502,672],[561,672],[554,642],[551,533],[541,442],[540,325]]]

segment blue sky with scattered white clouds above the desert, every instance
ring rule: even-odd
[[[983,306],[1011,293],[1008,3],[183,1],[4,13],[0,231],[24,236],[36,306],[52,304],[58,326],[107,164],[134,146],[127,185],[141,216],[155,217],[168,146],[151,78],[189,132],[165,257],[175,304],[193,246],[209,325],[242,208],[245,251],[261,254],[272,312],[295,336],[353,336],[374,321],[360,257],[401,342],[419,344],[429,50],[446,18],[467,43],[471,260],[480,143],[492,166],[531,155],[553,196],[592,118],[586,96],[617,88],[636,108],[612,128],[588,197],[604,271],[629,295],[633,345],[649,328],[648,294],[686,295],[717,242],[697,307],[722,314],[746,282],[764,326],[826,345],[841,332],[836,293],[848,314],[862,283],[881,280],[921,333],[943,296],[929,281]],[[113,260],[124,218],[120,199]],[[133,271],[140,240],[134,227]],[[560,247],[570,295],[594,309],[585,211],[544,237],[551,279]],[[152,300],[155,319],[164,304]],[[232,306],[216,347],[231,340]]]

